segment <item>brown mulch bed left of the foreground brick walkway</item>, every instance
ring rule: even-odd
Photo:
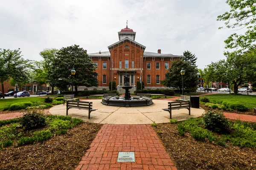
[[[82,123],[48,141],[0,150],[0,170],[71,170],[81,161],[101,124]]]

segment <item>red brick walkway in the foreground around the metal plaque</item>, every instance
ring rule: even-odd
[[[119,151],[136,162],[117,162]],[[151,125],[102,126],[76,170],[177,170]]]

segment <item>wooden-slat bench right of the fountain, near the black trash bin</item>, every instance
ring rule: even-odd
[[[170,119],[172,119],[172,110],[184,109],[184,108],[187,108],[189,110],[189,115],[190,115],[190,101],[188,101],[188,100],[181,100],[181,101],[177,101],[177,102],[168,102],[168,108],[162,109],[162,110],[169,111]]]

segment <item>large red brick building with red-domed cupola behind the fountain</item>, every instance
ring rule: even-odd
[[[108,90],[111,79],[117,86],[122,86],[126,73],[130,76],[130,85],[136,86],[141,72],[145,89],[166,88],[160,81],[165,79],[172,61],[184,56],[161,54],[160,49],[157,53],[147,52],[144,45],[135,41],[135,35],[136,32],[126,26],[118,32],[119,41],[108,46],[109,51],[88,54],[97,65],[99,85],[93,88],[80,87],[79,90]],[[135,89],[131,89],[131,92]]]

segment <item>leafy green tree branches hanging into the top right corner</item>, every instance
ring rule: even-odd
[[[219,21],[225,21],[226,27],[234,30],[246,28],[244,34],[231,34],[227,40],[225,48],[236,48],[240,52],[251,49],[256,41],[256,0],[226,0],[230,6],[230,11],[219,15]]]

